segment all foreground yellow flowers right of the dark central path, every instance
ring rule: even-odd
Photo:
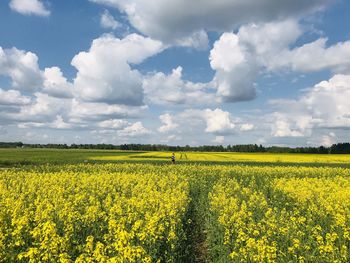
[[[216,260],[350,260],[349,169],[233,169],[216,182],[209,201]]]

